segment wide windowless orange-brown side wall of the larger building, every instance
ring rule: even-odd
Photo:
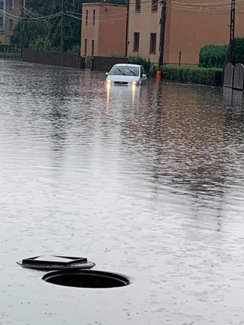
[[[184,2],[179,0],[178,2]],[[212,0],[206,0],[206,3]],[[206,44],[229,43],[230,8],[220,11],[186,11],[169,7],[165,33],[165,63],[197,64],[200,48]],[[226,6],[226,5],[225,5]],[[236,36],[244,36],[244,13],[236,10]]]

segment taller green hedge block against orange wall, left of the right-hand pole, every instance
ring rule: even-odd
[[[228,45],[204,45],[199,53],[199,66],[203,68],[223,68],[228,62]]]

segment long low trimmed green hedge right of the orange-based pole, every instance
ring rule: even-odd
[[[162,67],[163,79],[182,83],[220,86],[222,75],[220,68]]]

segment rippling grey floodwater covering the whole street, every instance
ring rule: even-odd
[[[0,324],[244,323],[241,100],[0,61]],[[17,260],[86,256],[112,289]]]

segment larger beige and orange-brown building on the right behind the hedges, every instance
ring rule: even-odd
[[[129,0],[128,55],[158,62],[161,5],[157,0]],[[205,6],[197,5],[205,3]],[[229,43],[230,2],[213,5],[212,0],[166,1],[164,62],[197,64],[206,44]],[[208,5],[209,3],[209,5]],[[244,36],[244,12],[236,6],[236,36]]]

